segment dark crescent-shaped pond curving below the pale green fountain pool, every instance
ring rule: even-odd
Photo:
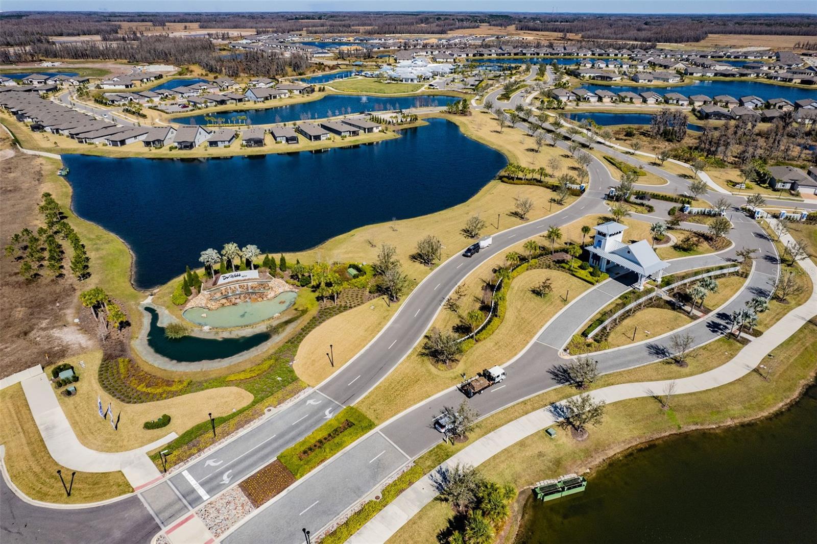
[[[183,337],[179,340],[168,340],[164,336],[164,327],[158,325],[158,312],[154,308],[145,308],[150,314],[148,346],[157,354],[181,363],[199,363],[213,359],[226,359],[261,346],[270,339],[269,332],[258,332],[248,337],[214,338]]]

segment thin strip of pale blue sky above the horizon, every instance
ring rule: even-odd
[[[0,0],[2,11],[525,11],[571,13],[809,13],[817,0]]]

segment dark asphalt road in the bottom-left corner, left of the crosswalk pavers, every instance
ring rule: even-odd
[[[93,508],[43,508],[21,501],[0,478],[2,544],[148,544],[158,530],[138,497]]]

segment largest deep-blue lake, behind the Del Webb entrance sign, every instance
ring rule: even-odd
[[[506,159],[444,119],[373,145],[256,158],[64,155],[79,216],[136,256],[138,288],[165,283],[224,243],[263,252],[314,247],[362,225],[462,203]]]

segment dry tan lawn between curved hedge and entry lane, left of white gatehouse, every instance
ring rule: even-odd
[[[530,288],[546,278],[551,279],[553,292],[543,299],[536,297]],[[524,272],[511,283],[506,315],[498,329],[462,354],[456,368],[435,367],[430,359],[420,354],[423,344],[420,341],[385,380],[360,400],[358,408],[375,421],[386,421],[430,395],[459,383],[462,381],[461,372],[473,376],[483,368],[507,363],[508,359],[525,348],[556,312],[565,307],[566,303],[561,297],[568,289],[569,300],[573,300],[590,287],[581,279],[559,270]]]

